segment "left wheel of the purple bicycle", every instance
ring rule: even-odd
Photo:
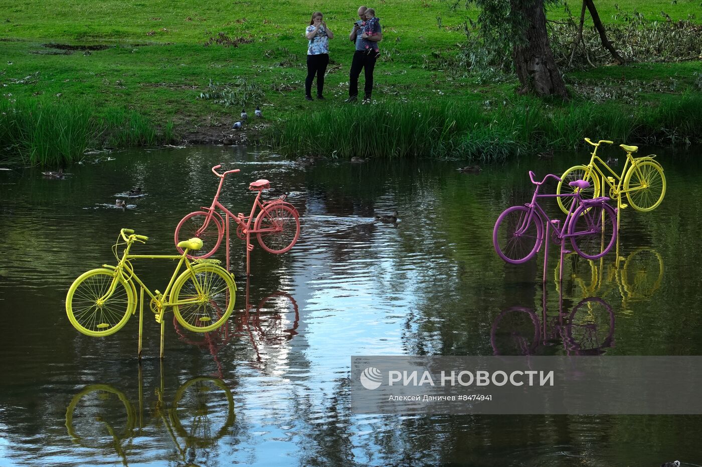
[[[526,206],[512,206],[500,214],[492,232],[498,256],[512,264],[529,261],[541,246],[543,225],[536,212]],[[527,224],[528,221],[528,224]]]

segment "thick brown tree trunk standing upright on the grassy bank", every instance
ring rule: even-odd
[[[515,30],[512,58],[520,93],[568,97],[568,91],[553,59],[546,32],[543,0],[510,0],[511,13],[520,18]]]

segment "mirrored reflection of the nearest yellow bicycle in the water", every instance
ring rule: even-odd
[[[197,449],[213,448],[228,433],[234,419],[234,400],[224,381],[197,376],[181,385],[169,405],[164,400],[163,362],[161,384],[155,391],[154,424],[166,428],[180,460],[176,465],[194,466]],[[128,397],[109,384],[91,384],[74,395],[66,409],[66,428],[73,441],[83,447],[116,452],[124,466],[134,438],[142,435],[143,377],[139,366],[139,409]]]

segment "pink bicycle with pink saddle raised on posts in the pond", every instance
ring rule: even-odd
[[[256,234],[258,244],[261,248],[270,253],[282,254],[289,251],[298,241],[300,236],[300,214],[289,202],[284,201],[286,195],[269,201],[261,202],[261,192],[270,188],[268,180],[256,180],[249,184],[249,190],[258,191],[256,199],[253,200],[251,213],[244,216],[238,213],[236,216],[229,209],[219,202],[219,195],[224,185],[224,179],[229,173],[237,173],[239,169],[218,173],[221,165],[212,168],[213,173],[220,178],[219,188],[212,200],[210,207],[204,207],[202,211],[195,211],[185,216],[178,227],[176,227],[176,245],[183,239],[197,237],[202,240],[202,248],[191,251],[190,258],[208,258],[222,243],[222,238],[227,237],[227,268],[229,264],[229,220],[232,218],[237,223],[237,237],[246,240],[246,274],[249,274],[249,251],[253,249],[250,236]],[[256,214],[258,208],[258,216]],[[222,218],[217,209],[225,213],[226,221]],[[254,221],[255,219],[255,221]],[[251,224],[253,223],[253,227]],[[177,248],[177,247],[176,247]],[[178,251],[183,251],[178,248]]]

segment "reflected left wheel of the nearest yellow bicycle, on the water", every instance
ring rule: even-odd
[[[126,395],[108,384],[86,386],[66,408],[68,434],[74,442],[91,448],[119,446],[120,440],[131,435],[134,419]]]

